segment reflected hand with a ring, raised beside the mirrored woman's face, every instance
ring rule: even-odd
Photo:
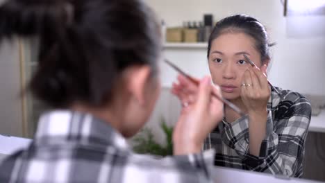
[[[271,91],[266,77],[267,65],[249,67],[242,78],[241,97],[249,114],[265,114]]]

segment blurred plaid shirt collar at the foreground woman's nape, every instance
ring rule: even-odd
[[[55,110],[40,117],[34,143],[81,143],[128,149],[126,139],[109,123],[91,114]]]

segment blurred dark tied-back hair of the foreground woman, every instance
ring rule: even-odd
[[[29,89],[52,107],[110,101],[124,69],[156,71],[160,32],[138,0],[9,0],[0,7],[0,39],[36,36],[38,68]]]

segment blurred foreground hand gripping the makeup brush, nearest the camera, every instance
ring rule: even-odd
[[[210,77],[203,78],[199,86],[184,76],[178,76],[178,82],[172,92],[186,104],[174,128],[174,155],[199,153],[204,139],[224,116],[224,104],[212,96],[221,96],[221,92],[211,85]]]

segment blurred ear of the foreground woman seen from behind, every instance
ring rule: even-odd
[[[135,66],[126,71],[126,89],[140,105],[144,105],[145,89],[148,88],[150,73],[151,68],[149,66]]]

